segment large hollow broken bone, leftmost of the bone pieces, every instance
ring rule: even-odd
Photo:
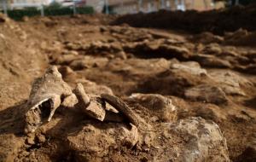
[[[25,132],[38,129],[41,124],[49,122],[55,110],[60,107],[73,107],[78,102],[71,88],[61,78],[57,67],[49,67],[44,75],[36,78],[32,84],[25,120]]]

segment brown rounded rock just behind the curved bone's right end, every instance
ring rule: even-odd
[[[129,98],[148,108],[160,121],[171,122],[177,119],[177,107],[172,105],[171,99],[163,95],[132,94]]]

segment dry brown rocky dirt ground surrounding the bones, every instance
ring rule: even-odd
[[[255,161],[255,33],[109,26],[114,19],[0,15],[0,161]],[[25,135],[32,81],[49,65],[72,88],[119,96],[149,129],[60,107]]]

